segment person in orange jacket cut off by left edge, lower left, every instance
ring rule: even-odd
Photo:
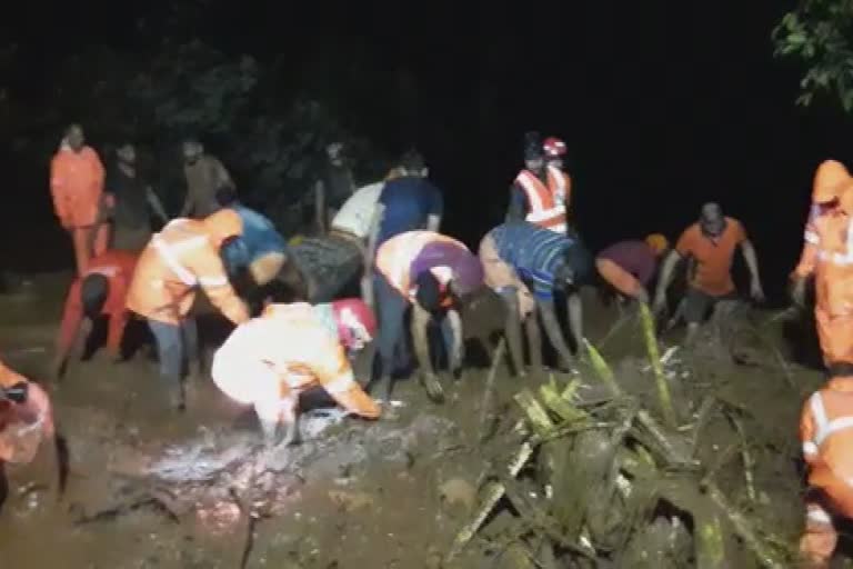
[[[6,463],[29,463],[43,439],[53,439],[48,395],[0,361],[0,507],[7,495]]]

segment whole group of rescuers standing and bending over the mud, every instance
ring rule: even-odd
[[[554,137],[528,136],[506,217],[472,252],[441,232],[442,193],[430,182],[418,151],[407,152],[384,180],[357,188],[344,148],[330,144],[327,174],[313,188],[318,231],[287,243],[269,219],[240,203],[228,170],[198,141],[183,146],[187,200],[180,217],[169,220],[151,186],[138,176],[131,144],[118,149],[106,173],[82,129],[72,126],[50,180],[78,270],[54,369],[62,372],[74,341],[86,338],[100,316],[109,317],[107,345],[116,359],[122,358],[128,322],[143,320],[157,343],[164,391],[182,408],[184,376],[203,376],[191,312],[202,289],[234,325],[213,357],[213,382],[254,407],[268,442],[280,442],[282,435],[294,442],[300,393],[314,387],[350,412],[375,419],[388,408],[369,393],[389,401],[394,379],[414,368],[429,397],[440,401],[439,361],[451,372],[463,365],[461,309],[481,295],[502,301],[503,332],[519,377],[529,369],[522,337],[531,365],[541,366],[540,329],[559,365],[571,366],[575,355],[559,307],[565,307],[571,343],[582,350],[579,290],[594,279],[622,301],[651,303],[661,315],[675,269],[688,261],[680,310],[686,342],[695,339],[714,305],[737,297],[731,274],[737,250],[750,272],[750,296],[763,299],[746,231],[716,203],[702,207],[674,248],[663,234],[652,233],[613,243],[593,257],[571,222],[565,152],[565,143]],[[847,328],[853,289],[845,284],[853,267],[853,179],[842,164],[820,167],[813,202],[793,297],[802,302],[806,279],[815,277],[817,331],[832,377],[806,403],[802,423],[813,487],[802,548],[820,563],[834,548],[832,516],[853,515],[853,459],[844,452],[853,437],[853,335]],[[158,232],[152,214],[163,223]],[[248,301],[250,290],[261,291],[259,306]],[[440,341],[431,341],[436,337]],[[359,352],[371,356],[364,350],[369,346],[375,346],[375,365],[370,377],[357,378],[351,362]],[[26,379],[7,383],[0,383],[0,393],[11,395],[0,395],[0,405],[24,405]]]

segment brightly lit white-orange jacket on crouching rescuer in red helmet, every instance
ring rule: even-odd
[[[243,403],[278,397],[295,406],[301,392],[319,386],[355,415],[380,415],[353,377],[331,305],[270,305],[217,350],[212,376],[222,391]]]

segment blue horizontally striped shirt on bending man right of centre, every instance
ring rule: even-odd
[[[510,221],[490,232],[498,254],[512,266],[541,300],[554,298],[554,278],[565,262],[563,251],[576,243],[570,237],[526,221]]]

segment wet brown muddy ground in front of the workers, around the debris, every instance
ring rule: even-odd
[[[185,413],[164,410],[144,350],[119,365],[96,352],[53,381],[48,365],[68,281],[37,277],[0,296],[0,355],[48,386],[70,456],[61,499],[50,449],[9,469],[0,568],[438,568],[484,476],[512,450],[509,438],[484,432],[520,417],[511,400],[519,386],[505,368],[485,416],[488,368],[480,367],[450,387],[443,406],[430,403],[417,382],[400,382],[393,420],[371,423],[319,406],[301,447],[272,451],[258,446],[251,411],[210,381],[191,386]],[[651,391],[636,328],[608,335],[615,308],[588,300],[590,340],[606,337],[602,352],[626,389]],[[766,363],[771,349],[753,359],[746,350],[737,363],[703,353],[670,379],[681,401],[713,385],[763,426],[753,435],[766,441],[755,456],[756,508],[793,539],[802,503],[797,416],[821,375],[791,361],[801,350],[787,347],[779,326],[762,333],[784,363]],[[710,432],[712,457],[726,441]],[[474,542],[454,567],[502,567],[500,557]]]

